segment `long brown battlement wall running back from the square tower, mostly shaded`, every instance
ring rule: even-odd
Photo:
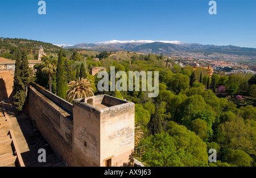
[[[61,106],[62,104],[65,107]],[[48,93],[39,85],[31,85],[28,88],[28,115],[36,122],[36,127],[52,149],[62,156],[64,162],[73,165],[73,114],[69,105],[72,108],[72,104],[64,104],[61,98]]]

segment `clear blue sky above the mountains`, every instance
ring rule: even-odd
[[[53,44],[108,40],[178,40],[256,48],[256,1],[0,0],[0,37]]]

